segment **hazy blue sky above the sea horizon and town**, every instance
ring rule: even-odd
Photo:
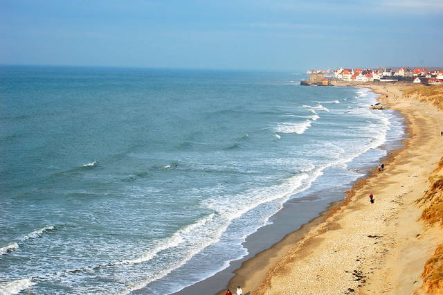
[[[0,1],[0,64],[443,66],[443,1]]]

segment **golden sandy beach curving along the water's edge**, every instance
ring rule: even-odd
[[[442,292],[442,258],[439,251],[433,256],[443,243],[441,208],[433,204],[442,196],[442,110],[424,96],[404,96],[413,84],[350,86],[370,87],[382,105],[404,116],[404,147],[382,159],[386,170],[374,167],[324,216],[244,262],[230,288],[241,285],[244,294]],[[291,244],[294,235],[302,238]]]

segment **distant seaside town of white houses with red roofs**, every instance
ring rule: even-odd
[[[306,72],[310,75],[309,80],[302,81],[301,84],[310,85],[329,85],[330,80],[342,80],[348,82],[413,82],[421,84],[443,84],[443,71],[440,69],[327,69],[316,70],[312,69]]]

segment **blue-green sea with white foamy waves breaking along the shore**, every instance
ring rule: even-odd
[[[404,136],[368,89],[303,78],[1,66],[0,293],[176,292]]]

